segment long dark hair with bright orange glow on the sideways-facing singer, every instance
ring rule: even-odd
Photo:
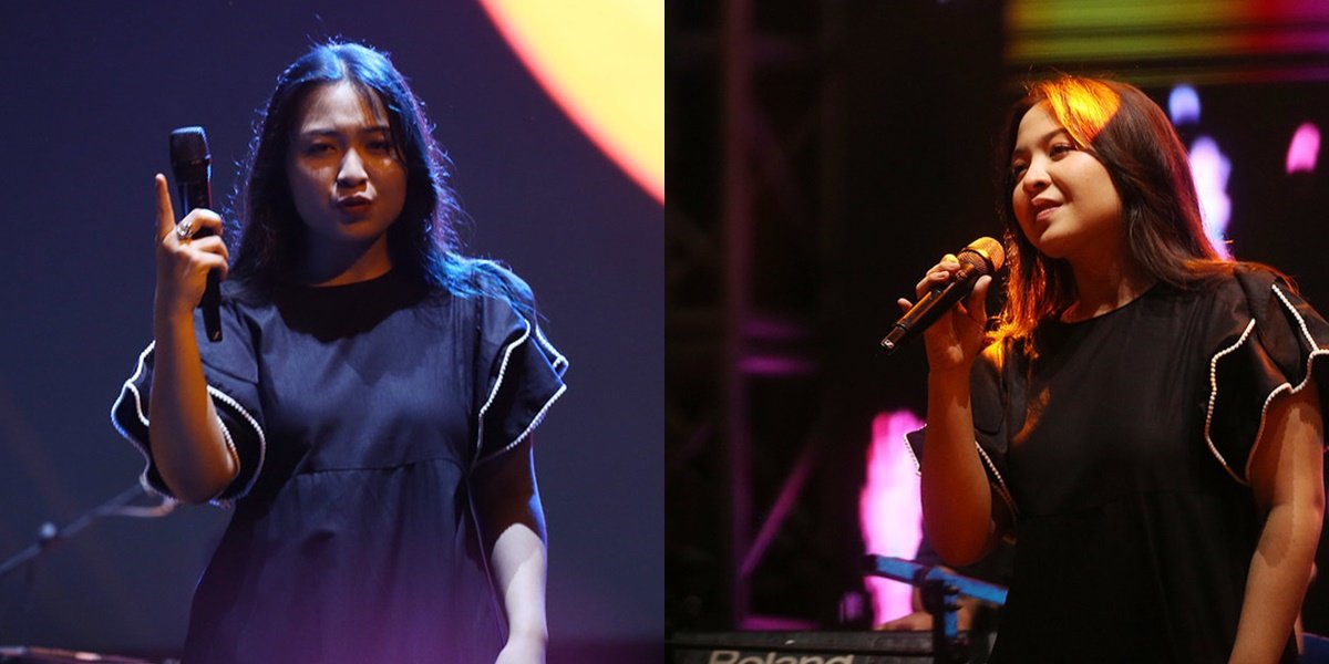
[[[1025,113],[1039,104],[1047,105],[1078,149],[1107,169],[1122,199],[1127,259],[1136,268],[1179,288],[1232,272],[1236,263],[1223,260],[1204,235],[1185,147],[1163,109],[1124,82],[1076,76],[1039,81],[1011,108],[998,143],[998,212],[1010,275],[997,339],[1029,341],[1041,323],[1059,316],[1076,296],[1070,263],[1038,252],[1011,207],[1015,133]]]

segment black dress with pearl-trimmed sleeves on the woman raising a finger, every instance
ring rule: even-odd
[[[529,290],[492,264],[518,299]],[[223,287],[199,352],[239,475],[194,595],[185,663],[493,661],[505,637],[472,470],[563,392],[533,316],[397,272],[254,297]],[[199,335],[202,339],[202,335]],[[112,420],[148,458],[152,347]],[[494,534],[486,534],[494,535]]]

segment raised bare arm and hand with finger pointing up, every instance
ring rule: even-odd
[[[239,465],[222,434],[207,394],[194,336],[194,307],[210,270],[226,272],[221,218],[209,210],[186,216],[217,235],[181,239],[166,178],[157,175],[157,292],[153,300],[153,384],[149,434],[153,458],[166,486],[185,502],[222,493]]]

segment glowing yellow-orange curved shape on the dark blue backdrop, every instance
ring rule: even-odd
[[[574,122],[664,201],[664,4],[481,0],[526,68]]]

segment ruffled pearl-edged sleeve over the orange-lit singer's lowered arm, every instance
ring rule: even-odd
[[[1216,296],[1204,434],[1209,452],[1245,485],[1275,397],[1314,380],[1325,412],[1329,323],[1268,271],[1243,267],[1235,276]]]

